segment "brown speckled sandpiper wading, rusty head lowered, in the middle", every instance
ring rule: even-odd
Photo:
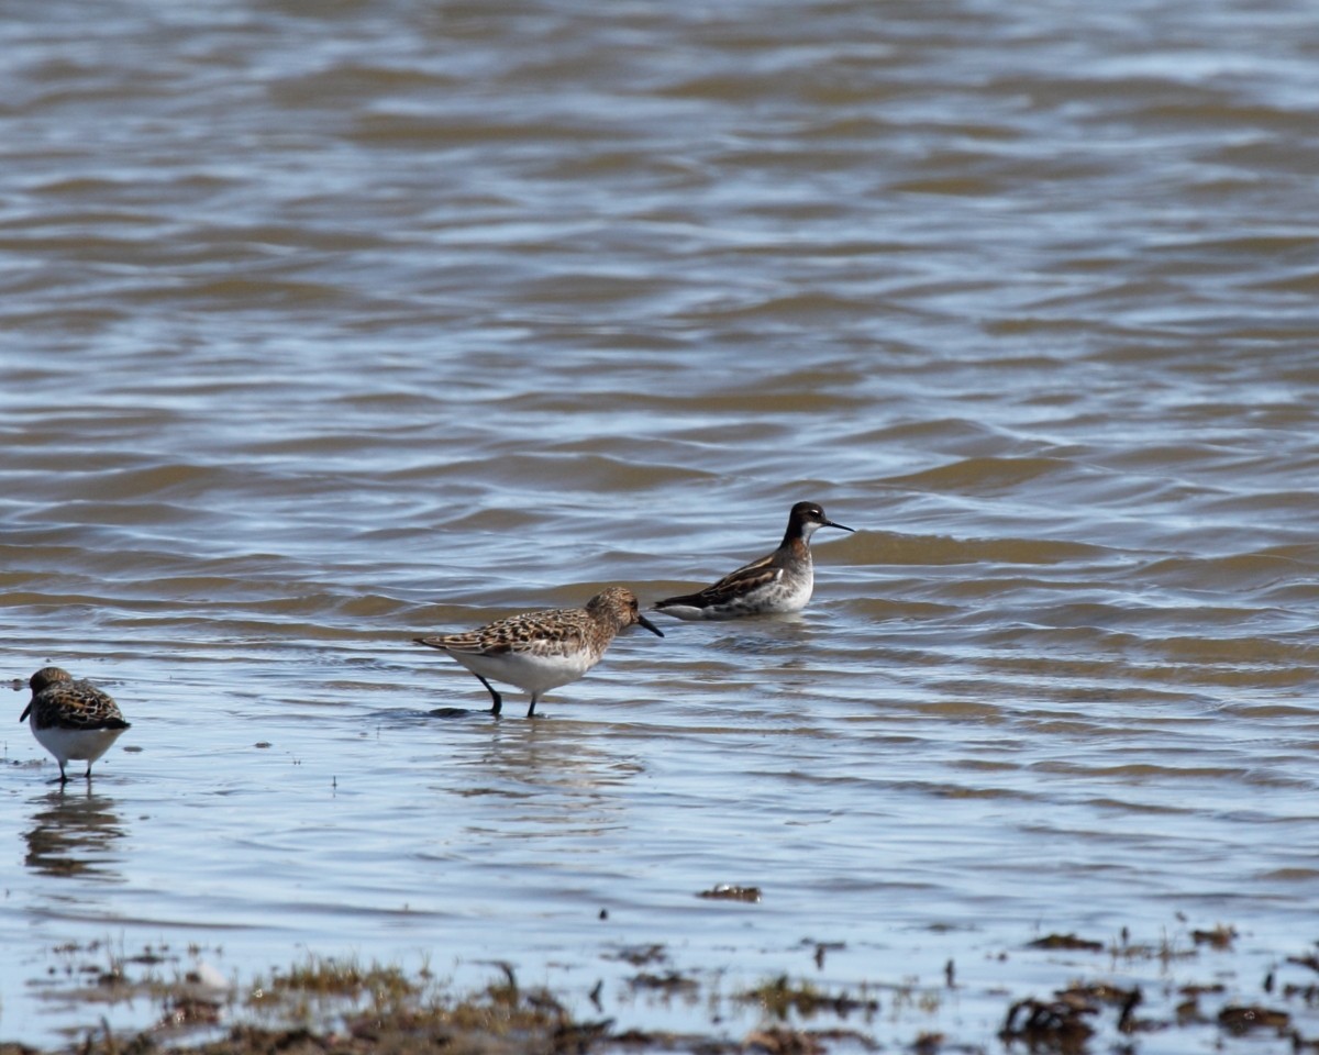
[[[524,612],[467,633],[415,641],[447,651],[475,674],[495,702],[492,715],[499,715],[504,700],[487,678],[526,690],[532,694],[526,716],[532,717],[542,692],[584,675],[600,662],[620,630],[638,622],[663,637],[663,632],[641,615],[636,593],[611,586],[591,597],[586,608]]]

